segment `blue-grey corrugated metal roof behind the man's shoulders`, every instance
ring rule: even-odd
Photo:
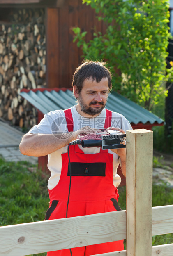
[[[74,106],[76,102],[72,91],[66,88],[22,90],[20,95],[43,114],[56,109],[67,109]],[[130,123],[134,124],[160,125],[164,123],[161,118],[152,112],[116,92],[109,94],[106,109],[122,114]]]

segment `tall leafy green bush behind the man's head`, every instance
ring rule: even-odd
[[[166,69],[168,2],[83,0],[104,21],[106,33],[95,31],[87,42],[87,31],[73,28],[83,57],[108,62],[113,89],[149,110],[167,95],[165,84],[172,79],[173,68]]]

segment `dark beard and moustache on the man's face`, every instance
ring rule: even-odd
[[[95,108],[92,108],[92,107],[87,107],[87,105],[83,102],[83,99],[81,97],[81,95],[79,94],[78,96],[78,102],[79,102],[79,105],[81,107],[81,111],[84,112],[85,114],[88,114],[88,115],[91,115],[91,116],[95,116],[99,113],[101,113],[101,111],[104,109],[106,103],[104,104],[103,101],[101,102],[97,102],[95,100],[91,101],[89,106],[92,105],[92,104],[100,104],[100,106],[98,107],[95,107]]]

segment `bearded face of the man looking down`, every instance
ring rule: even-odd
[[[83,88],[76,94],[80,110],[90,116],[101,113],[108,98],[108,78],[103,78],[99,83],[92,78],[83,82]]]

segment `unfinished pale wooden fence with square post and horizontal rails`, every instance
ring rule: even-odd
[[[0,255],[38,254],[127,239],[127,250],[100,255],[173,256],[173,244],[152,247],[152,235],[173,233],[173,205],[152,207],[152,132],[130,130],[126,138],[127,211],[0,227]]]

